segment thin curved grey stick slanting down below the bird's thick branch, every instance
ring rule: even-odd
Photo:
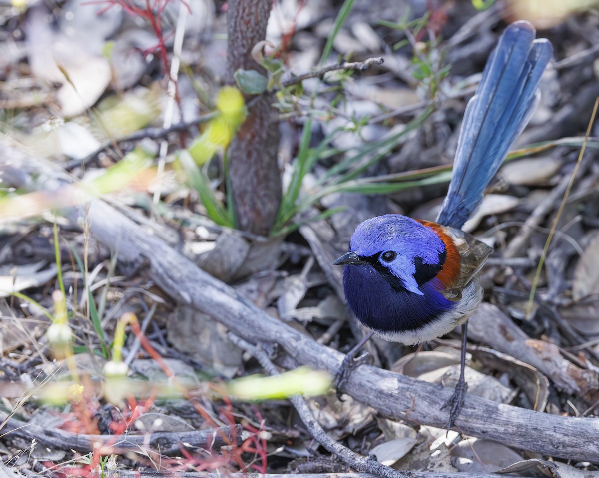
[[[229,339],[241,349],[251,353],[269,374],[279,374],[279,371],[274,366],[273,362],[270,361],[266,353],[264,353],[259,346],[252,346],[252,344],[246,342],[243,338],[240,338],[235,334],[229,334]],[[310,407],[308,407],[304,397],[301,397],[301,395],[289,397],[289,400],[295,407],[295,410],[297,410],[314,439],[319,441],[319,443],[329,450],[329,452],[341,458],[346,464],[350,465],[350,467],[355,468],[355,470],[361,471],[362,473],[374,473],[376,476],[384,476],[386,478],[407,478],[405,473],[395,470],[395,468],[388,467],[387,465],[383,465],[371,456],[358,455],[358,453],[353,452],[346,446],[343,446],[338,441],[329,437],[322,426],[320,426],[320,423],[314,418]]]

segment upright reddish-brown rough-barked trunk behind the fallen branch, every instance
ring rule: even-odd
[[[264,69],[251,56],[264,40],[272,0],[229,0],[227,10],[227,78],[235,84],[237,69]],[[246,98],[247,99],[247,98]],[[277,164],[279,124],[268,96],[249,108],[247,118],[229,146],[229,174],[237,213],[244,231],[266,235],[273,226],[281,200],[281,177]]]

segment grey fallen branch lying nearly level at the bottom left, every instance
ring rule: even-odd
[[[4,424],[4,426],[2,426]],[[143,434],[124,433],[122,435],[89,435],[74,433],[58,428],[47,429],[35,423],[26,423],[10,418],[0,412],[2,436],[20,437],[25,440],[37,440],[46,446],[60,450],[90,452],[104,447],[103,453],[140,453],[153,450],[164,455],[180,453],[181,447],[199,447],[204,449],[220,448],[231,443],[241,443],[241,425],[222,426],[220,428],[193,430],[184,432],[157,431]],[[235,441],[237,440],[237,441]]]

